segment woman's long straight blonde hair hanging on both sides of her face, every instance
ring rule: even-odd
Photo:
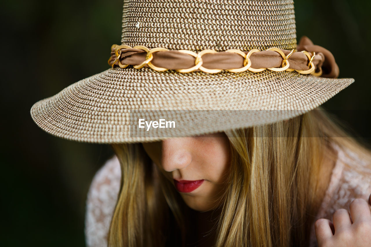
[[[330,143],[371,164],[370,150],[335,122],[318,107],[287,121],[225,131],[231,164],[215,246],[308,245],[324,154],[336,160]],[[108,246],[185,246],[190,211],[174,186],[141,144],[112,147],[122,174]]]

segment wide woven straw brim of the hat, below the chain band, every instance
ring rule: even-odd
[[[198,110],[194,122],[171,134],[191,136],[293,118],[321,105],[352,82],[351,78],[330,79],[295,71],[209,74],[116,67],[35,103],[31,116],[49,134],[73,141],[149,142],[165,136],[132,135],[130,111]],[[240,111],[231,116],[229,110]],[[172,121],[184,120],[180,112],[171,114]]]

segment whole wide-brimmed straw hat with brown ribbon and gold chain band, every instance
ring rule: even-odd
[[[109,69],[35,103],[37,125],[73,141],[157,141],[289,119],[354,82],[335,79],[328,50],[297,45],[290,0],[124,1],[121,44]]]

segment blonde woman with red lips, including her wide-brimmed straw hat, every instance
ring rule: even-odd
[[[209,230],[206,246],[368,244],[370,151],[314,110],[354,80],[337,79],[328,50],[296,43],[293,10],[290,0],[124,2],[112,68],[31,109],[50,134],[116,152],[92,184],[88,242],[108,222],[98,241],[110,246],[196,245]],[[341,207],[363,198],[349,202],[361,220],[339,211],[330,236],[329,222],[313,223],[334,213],[337,194]]]

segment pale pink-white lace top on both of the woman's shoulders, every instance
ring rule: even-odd
[[[349,204],[355,198],[368,200],[371,193],[371,168],[357,157],[348,152],[347,158],[337,145],[338,159],[332,170],[331,179],[322,205],[316,216],[332,220],[332,215],[339,208],[349,210]],[[361,172],[349,169],[344,164],[357,166]],[[85,239],[88,247],[107,246],[107,234],[115,208],[120,186],[121,171],[118,158],[112,157],[95,174],[88,192],[85,216]],[[311,226],[310,247],[318,246],[314,231]]]

